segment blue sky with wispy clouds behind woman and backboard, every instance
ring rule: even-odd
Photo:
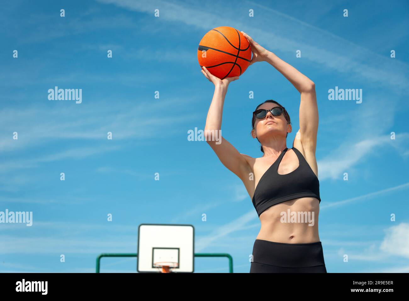
[[[409,272],[408,8],[407,1],[4,3],[0,211],[32,211],[33,225],[0,224],[0,272],[94,272],[100,253],[137,252],[141,223],[191,224],[195,252],[229,253],[234,272],[249,272],[260,229],[252,201],[206,142],[187,140],[188,130],[204,128],[214,90],[200,72],[198,43],[218,26],[245,31],[315,82],[327,271]],[[54,86],[81,88],[82,103],[49,101]],[[336,86],[362,89],[362,103],[328,100]],[[299,92],[263,62],[232,82],[225,99],[222,135],[240,153],[262,156],[251,112],[266,99],[287,108],[292,146]],[[198,258],[195,268],[227,272],[227,261]],[[104,258],[101,272],[136,272],[136,259]]]

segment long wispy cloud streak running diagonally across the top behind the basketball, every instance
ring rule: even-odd
[[[132,0],[99,2],[148,13],[152,18],[155,9],[160,9],[161,20],[184,22],[205,30],[210,30],[218,24],[229,24],[247,32],[267,49],[292,53],[301,49],[303,58],[327,69],[342,72],[348,77],[364,79],[368,83],[382,85],[387,89],[399,88],[401,94],[407,94],[409,90],[409,66],[406,63],[402,61],[391,63],[391,58],[387,56],[376,54],[371,49],[255,2],[245,1],[245,5],[256,10],[253,18],[256,25],[240,22],[234,7],[218,12],[213,9],[212,3],[207,2],[197,4]]]

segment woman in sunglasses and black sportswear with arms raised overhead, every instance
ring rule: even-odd
[[[286,147],[287,135],[292,131],[290,116],[273,100],[258,105],[252,117],[251,135],[260,142],[263,157],[241,154],[223,137],[221,143],[206,138],[222,164],[243,181],[261,221],[250,273],[326,273],[318,235],[321,199],[315,159],[318,130],[315,84],[242,33],[252,47],[250,65],[261,61],[270,63],[301,95],[300,128],[290,149]],[[227,87],[238,76],[221,80],[206,67],[202,68],[202,73],[215,85],[205,126],[205,133],[210,133],[206,130],[221,128]]]

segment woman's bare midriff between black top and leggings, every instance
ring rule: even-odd
[[[290,215],[288,215],[290,210]],[[295,217],[291,218],[293,214]],[[297,198],[267,208],[260,215],[261,229],[256,239],[276,243],[315,243],[318,236],[319,200]],[[284,218],[288,217],[287,220]]]

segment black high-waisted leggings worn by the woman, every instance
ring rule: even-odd
[[[276,243],[256,239],[250,273],[326,273],[320,241]]]

